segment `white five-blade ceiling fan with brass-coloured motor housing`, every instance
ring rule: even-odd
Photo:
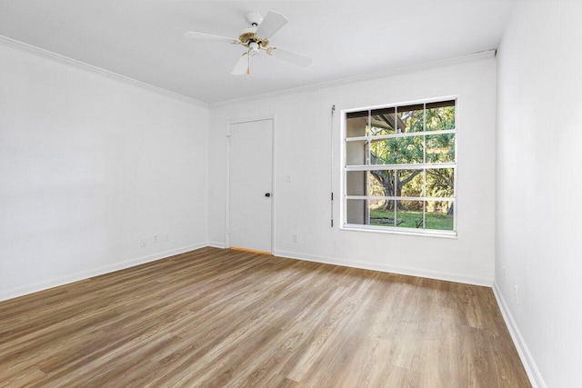
[[[185,35],[193,39],[225,42],[247,47],[248,50],[236,62],[235,68],[231,72],[232,75],[250,74],[251,58],[258,54],[260,50],[265,50],[266,54],[284,59],[295,65],[311,65],[311,58],[269,45],[269,38],[275,35],[288,22],[284,15],[269,11],[265,19],[263,19],[260,14],[251,12],[246,15],[246,20],[250,23],[250,27],[245,28],[238,38],[196,33],[194,31],[188,31]]]

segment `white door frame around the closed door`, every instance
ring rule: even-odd
[[[271,252],[275,251],[275,203],[276,203],[276,115],[254,116],[226,121],[226,228],[225,228],[225,247],[230,248],[230,127],[235,124],[254,123],[257,121],[271,120]]]

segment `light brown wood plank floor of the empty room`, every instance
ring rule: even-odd
[[[491,289],[204,248],[0,303],[0,386],[528,387]]]

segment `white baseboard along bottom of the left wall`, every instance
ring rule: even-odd
[[[36,293],[38,291],[43,291],[49,288],[57,287],[59,285],[69,284],[73,282],[78,282],[79,280],[84,280],[90,277],[98,276],[100,274],[108,274],[115,271],[123,270],[125,268],[133,267],[139,264],[146,264],[149,262],[154,262],[159,259],[164,259],[169,256],[173,256],[175,254],[184,254],[185,252],[194,251],[199,248],[204,248],[208,246],[208,244],[201,243],[201,244],[193,244],[193,245],[186,245],[180,248],[171,249],[164,252],[159,252],[157,254],[149,254],[146,256],[136,257],[134,259],[125,260],[123,262],[118,262],[115,264],[107,264],[97,268],[92,268],[90,270],[82,271],[76,274],[70,274],[67,276],[63,276],[57,279],[51,279],[45,282],[36,283],[36,284],[28,284],[24,287],[15,288],[12,290],[7,290],[0,293],[0,302],[12,299],[18,296],[23,296],[28,293]]]

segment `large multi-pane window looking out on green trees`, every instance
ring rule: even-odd
[[[456,100],[343,111],[345,229],[456,235]]]

